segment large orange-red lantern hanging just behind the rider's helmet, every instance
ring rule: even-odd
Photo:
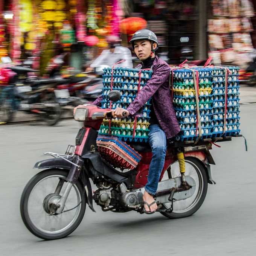
[[[123,19],[120,22],[120,31],[123,34],[131,35],[134,34],[137,30],[145,29],[147,26],[146,20],[138,17],[130,17]]]

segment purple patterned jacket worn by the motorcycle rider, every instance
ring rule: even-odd
[[[151,78],[139,91],[137,97],[129,105],[127,110],[131,115],[136,114],[152,97],[155,115],[161,128],[165,132],[167,139],[169,139],[174,137],[180,131],[169,88],[170,67],[165,61],[155,56],[152,70],[153,74]],[[100,106],[101,100],[102,97],[99,97],[93,104]]]

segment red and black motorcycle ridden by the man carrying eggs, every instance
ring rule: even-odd
[[[108,97],[116,102],[120,93],[113,90]],[[65,154],[46,152],[53,158],[35,164],[34,168],[44,170],[29,180],[20,200],[22,220],[35,236],[46,240],[68,236],[82,221],[86,205],[96,212],[93,201],[104,212],[144,213],[142,197],[151,148],[147,143],[130,144],[142,155],[135,169],[114,168],[102,157],[96,138],[102,120],[112,117],[111,111],[90,104],[79,105],[74,118],[84,126],[78,131],[76,146],[69,145]],[[170,142],[154,195],[157,212],[176,219],[190,216],[200,208],[208,183],[215,183],[210,171],[210,164],[215,164],[209,152],[211,145]],[[90,180],[97,186],[96,191],[92,191]]]

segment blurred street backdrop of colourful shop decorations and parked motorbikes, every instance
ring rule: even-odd
[[[7,108],[42,114],[45,106],[31,104],[50,101],[61,107],[47,120],[55,124],[63,110],[93,101],[104,67],[139,63],[129,40],[144,28],[170,66],[203,66],[212,56],[215,66],[239,66],[240,81],[254,86],[255,8],[255,0],[1,0],[0,122],[14,119]]]

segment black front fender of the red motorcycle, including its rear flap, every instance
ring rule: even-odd
[[[72,157],[68,158],[70,161],[72,161]],[[34,168],[35,169],[61,169],[63,171],[69,171],[71,168],[71,163],[63,160],[62,158],[49,158],[42,161],[39,161],[35,163]],[[93,195],[91,190],[91,183],[88,178],[88,176],[85,174],[85,172],[81,172],[79,176],[79,180],[82,182],[82,184],[85,187],[85,198],[88,206],[93,212],[96,212],[93,208]]]

